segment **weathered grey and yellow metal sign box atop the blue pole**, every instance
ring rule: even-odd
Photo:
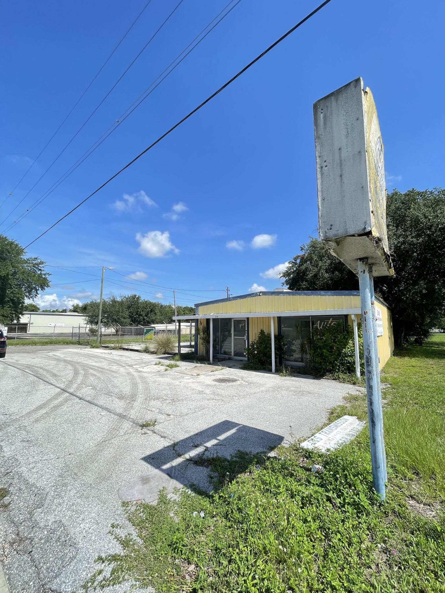
[[[357,78],[314,103],[319,236],[355,273],[392,275],[383,142],[373,95]]]

